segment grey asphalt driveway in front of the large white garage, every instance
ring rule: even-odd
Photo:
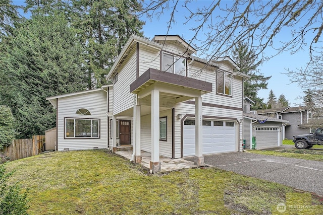
[[[204,163],[323,196],[323,162],[234,152],[206,155]]]

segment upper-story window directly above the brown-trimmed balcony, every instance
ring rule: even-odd
[[[180,76],[186,76],[186,58],[162,52],[161,70]]]

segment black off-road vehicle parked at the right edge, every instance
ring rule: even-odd
[[[314,133],[293,136],[297,149],[309,149],[314,145],[323,145],[323,128],[317,128]]]

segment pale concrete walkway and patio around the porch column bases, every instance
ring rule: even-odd
[[[129,160],[132,160],[132,153],[133,153],[132,151],[118,151],[115,153]],[[142,156],[141,165],[149,169],[151,154],[148,152],[141,151],[141,156]],[[160,156],[159,161],[160,161],[160,169],[161,169],[159,173],[198,167],[194,165],[193,161],[188,161],[182,158],[171,159],[171,158],[165,158]]]

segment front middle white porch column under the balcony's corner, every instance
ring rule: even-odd
[[[151,161],[150,170],[160,171],[159,162],[159,90],[151,91]]]

